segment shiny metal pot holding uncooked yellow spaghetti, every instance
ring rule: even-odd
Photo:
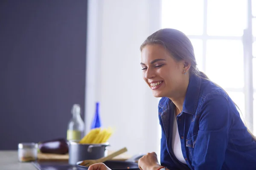
[[[77,141],[69,141],[68,163],[76,165],[78,161],[86,159],[99,159],[108,155],[109,143],[102,144],[79,144]]]

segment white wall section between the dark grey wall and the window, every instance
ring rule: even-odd
[[[159,152],[157,104],[142,78],[140,45],[160,29],[160,0],[88,0],[85,130],[101,102],[111,150]]]

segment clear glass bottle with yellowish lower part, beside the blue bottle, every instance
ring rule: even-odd
[[[71,113],[73,117],[68,123],[67,140],[79,141],[84,135],[84,121],[81,118],[80,105],[74,104]]]

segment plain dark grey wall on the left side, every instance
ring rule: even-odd
[[[0,150],[66,138],[72,105],[84,110],[86,30],[87,0],[0,0]]]

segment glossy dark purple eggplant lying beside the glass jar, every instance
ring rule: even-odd
[[[53,139],[38,143],[38,149],[41,153],[67,154],[68,143],[66,139]]]

